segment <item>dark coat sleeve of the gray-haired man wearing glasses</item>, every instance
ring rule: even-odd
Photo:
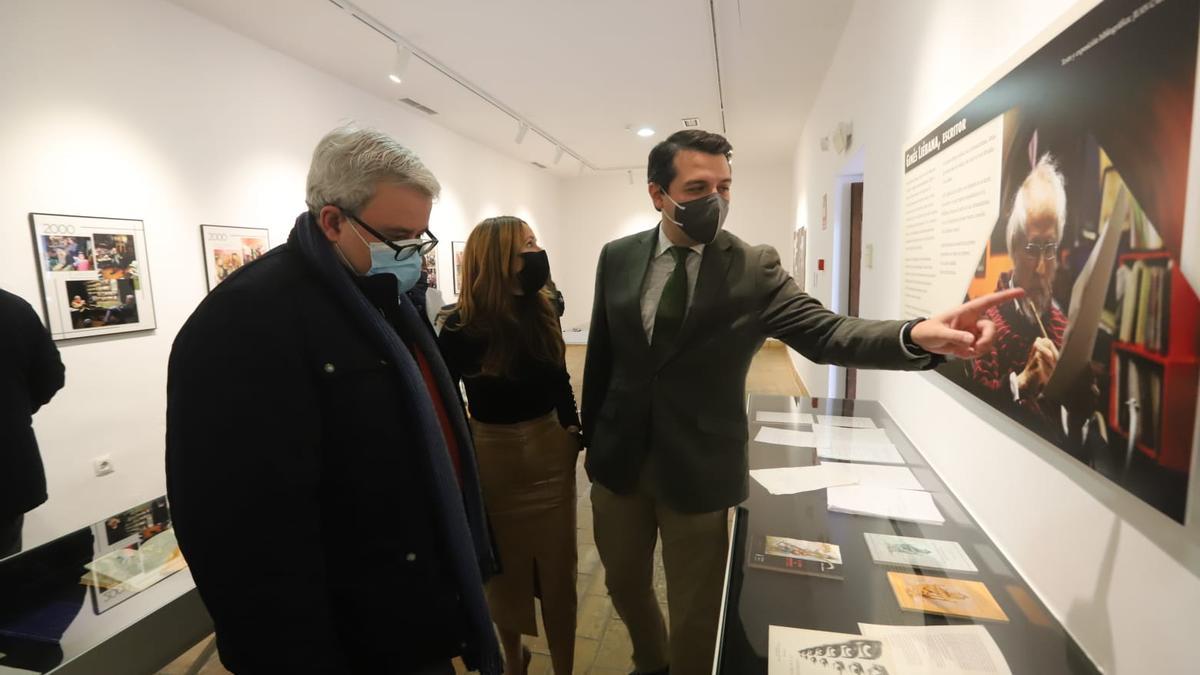
[[[167,489],[217,626],[253,673],[341,673],[322,540],[325,438],[313,364],[286,312],[216,293],[172,348]],[[348,422],[349,423],[349,422]]]

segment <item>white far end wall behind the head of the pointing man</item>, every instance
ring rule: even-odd
[[[654,143],[677,130],[647,142]],[[791,269],[793,191],[792,167],[787,163],[749,163],[737,159],[733,144],[733,190],[725,228],[750,244],[769,244],[779,250]],[[546,228],[550,264],[554,280],[566,298],[564,328],[583,327],[592,319],[596,259],[600,249],[613,239],[655,227],[654,210],[646,185],[646,171],[635,171],[632,185],[625,172],[569,178],[563,190],[560,232]]]

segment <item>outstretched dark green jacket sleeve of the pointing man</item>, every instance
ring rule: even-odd
[[[900,345],[902,321],[848,317],[827,310],[784,270],[779,253],[760,249],[758,283],[766,334],[821,364],[883,370],[922,370],[929,357],[911,358]]]

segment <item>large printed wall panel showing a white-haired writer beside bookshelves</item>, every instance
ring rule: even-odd
[[[1198,26],[1194,0],[1102,2],[902,159],[905,310],[1025,289],[990,310],[996,350],[941,375],[1180,521],[1200,370],[1181,269]]]

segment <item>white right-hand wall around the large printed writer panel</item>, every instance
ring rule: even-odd
[[[820,227],[821,197],[834,198],[848,155],[862,151],[863,239],[875,251],[874,267],[862,270],[862,316],[900,315],[904,148],[982,80],[1002,74],[994,71],[1044,30],[1067,25],[1094,4],[854,5],[797,149],[794,221],[809,227],[810,269],[817,258],[834,257],[835,227]],[[854,149],[821,151],[820,138],[839,121],[853,123]],[[828,303],[830,283],[818,283],[814,293]],[[823,393],[826,369],[797,363],[805,383]],[[980,419],[935,377],[863,371],[858,394],[888,407],[1104,671],[1195,671],[1200,578],[1180,562],[1190,556],[1192,569],[1200,569],[1194,533],[1186,536],[1151,507],[1105,488],[1032,435],[1006,434]]]

